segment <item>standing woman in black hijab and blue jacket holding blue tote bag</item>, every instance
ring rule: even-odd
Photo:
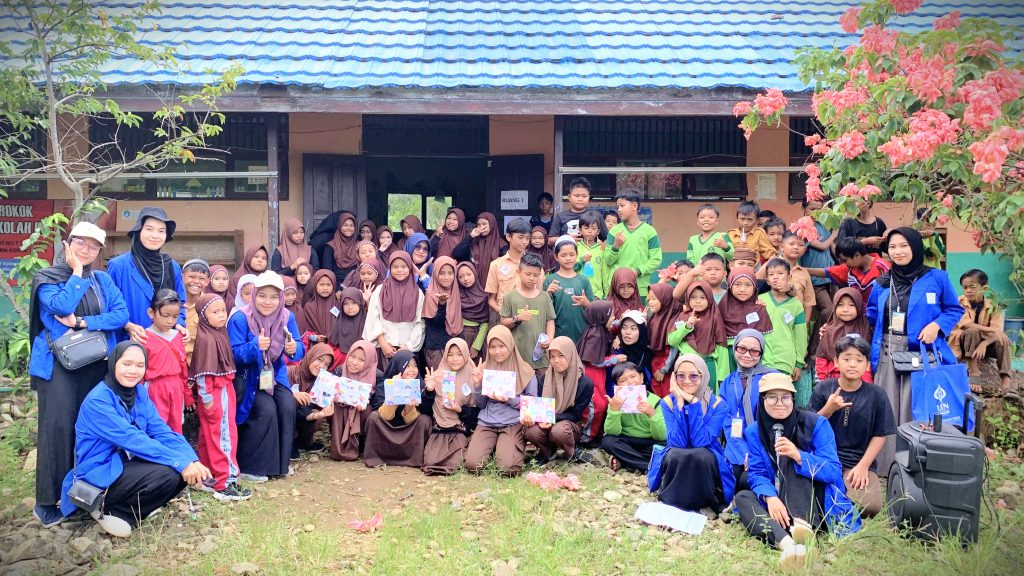
[[[930,344],[928,348],[935,351],[939,364],[956,364],[956,355],[946,338],[964,317],[964,306],[946,273],[925,265],[921,233],[909,228],[891,231],[882,251],[889,254],[893,268],[874,281],[865,316],[874,327],[871,338],[874,383],[889,396],[899,426],[913,420],[910,373],[896,371],[893,353],[916,353],[924,344]],[[889,475],[895,454],[896,437],[891,436],[879,454],[879,476]]]

